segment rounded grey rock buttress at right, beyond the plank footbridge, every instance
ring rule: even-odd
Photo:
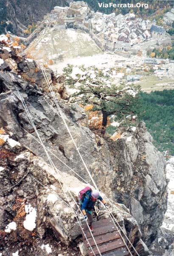
[[[141,227],[143,241],[150,244],[167,209],[166,163],[144,123],[133,134],[130,130],[114,145],[118,164],[112,191],[115,199],[130,209]]]

